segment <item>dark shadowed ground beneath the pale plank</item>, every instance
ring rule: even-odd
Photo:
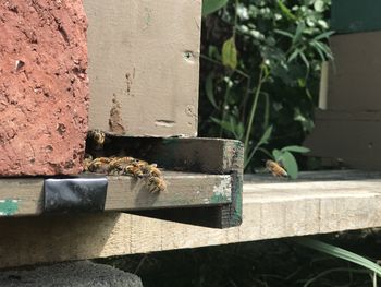
[[[381,234],[319,237],[372,260],[381,258]],[[314,251],[293,240],[174,250],[98,260],[142,277],[145,287],[378,286],[368,270]],[[380,285],[381,286],[381,285]]]

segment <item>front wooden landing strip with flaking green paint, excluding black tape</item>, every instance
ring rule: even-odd
[[[231,203],[230,175],[201,175],[165,171],[168,189],[150,193],[143,180],[109,177],[106,211],[134,211],[160,207],[192,207]],[[42,178],[0,179],[0,216],[38,215],[44,208]],[[5,204],[7,203],[7,204]],[[15,208],[10,210],[10,205]],[[1,210],[2,208],[2,210]]]

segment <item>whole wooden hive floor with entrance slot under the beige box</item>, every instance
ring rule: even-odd
[[[218,139],[127,139],[115,137],[115,148],[139,143],[140,157],[160,163],[168,189],[149,192],[144,180],[127,176],[107,177],[106,202],[97,212],[134,212],[216,228],[237,226],[242,222],[243,145]],[[135,155],[133,147],[131,154]],[[76,177],[83,179],[86,177]],[[65,178],[64,178],[65,179]],[[0,179],[0,216],[36,216],[51,213],[94,212],[97,199],[82,198],[82,182],[67,193],[58,189],[65,207],[51,210],[46,200],[44,178]],[[74,183],[75,184],[75,183]],[[74,200],[67,194],[74,194]],[[49,208],[48,208],[49,206]]]

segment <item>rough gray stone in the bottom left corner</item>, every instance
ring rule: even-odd
[[[134,274],[89,261],[0,272],[2,287],[143,287]]]

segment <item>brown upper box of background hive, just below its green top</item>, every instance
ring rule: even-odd
[[[334,61],[328,83],[327,108],[339,111],[380,111],[381,31],[334,35]]]

